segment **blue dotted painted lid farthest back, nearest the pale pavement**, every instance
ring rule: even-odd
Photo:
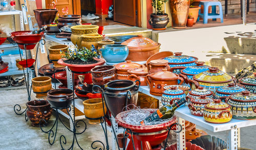
[[[196,57],[181,55],[181,52],[176,52],[174,54],[174,56],[166,57],[164,60],[168,60],[169,64],[188,64],[194,63],[198,60]]]

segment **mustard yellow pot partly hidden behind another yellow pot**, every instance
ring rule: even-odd
[[[82,48],[81,45],[81,36],[85,34],[98,34],[99,26],[95,25],[78,25],[72,26],[71,28],[71,41],[74,45],[77,45],[78,48]]]

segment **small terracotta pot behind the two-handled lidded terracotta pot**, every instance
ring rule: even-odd
[[[148,74],[156,73],[162,71],[162,69],[166,68],[167,71],[170,71],[170,66],[168,65],[168,60],[152,60],[150,64],[147,65]]]

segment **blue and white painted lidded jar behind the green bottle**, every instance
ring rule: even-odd
[[[180,98],[185,98],[185,91],[172,86],[170,89],[163,91],[161,102],[163,105],[172,105],[177,102]],[[185,106],[185,103],[181,106]]]

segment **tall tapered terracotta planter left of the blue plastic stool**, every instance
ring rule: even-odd
[[[189,9],[188,0],[169,0],[170,13],[172,14],[172,27],[174,29],[184,29],[187,24]]]

